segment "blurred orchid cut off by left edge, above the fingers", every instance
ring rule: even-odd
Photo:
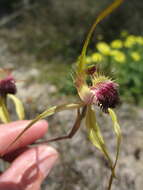
[[[11,121],[7,108],[8,98],[13,101],[18,118],[24,118],[24,108],[22,102],[15,96],[16,92],[16,80],[11,74],[11,71],[8,69],[0,69],[0,120],[3,123]]]

